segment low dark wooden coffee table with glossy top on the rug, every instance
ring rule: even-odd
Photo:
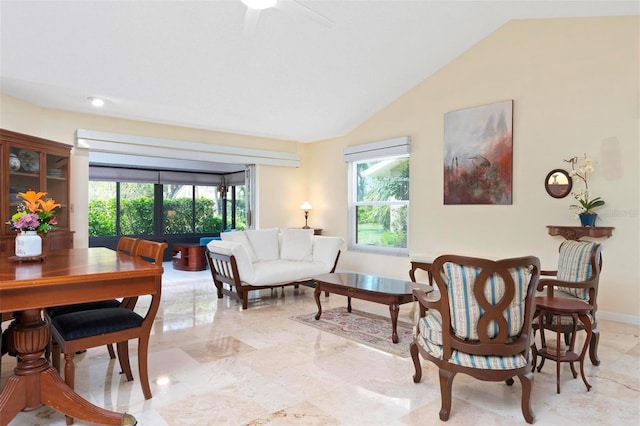
[[[388,305],[393,328],[393,334],[391,335],[393,343],[398,343],[398,312],[400,311],[400,305],[413,301],[414,288],[419,288],[427,293],[433,291],[433,287],[426,284],[346,272],[318,275],[313,278],[313,281],[316,285],[313,295],[318,305],[317,320],[322,315],[320,293],[323,291],[347,296],[347,311],[349,312],[351,312],[352,297]]]

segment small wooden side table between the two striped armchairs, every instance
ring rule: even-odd
[[[536,368],[537,357],[540,355],[542,357],[542,361],[540,362],[540,366],[538,367],[538,372],[542,370],[542,366],[544,365],[545,359],[550,359],[556,362],[556,386],[557,393],[560,393],[560,363],[568,362],[571,365],[571,372],[573,373],[573,378],[578,377],[578,373],[573,367],[573,363],[576,361],[580,362],[580,375],[582,376],[582,381],[587,387],[587,391],[591,389],[591,385],[587,382],[587,378],[584,375],[584,356],[587,353],[587,349],[589,348],[589,342],[591,342],[591,319],[589,318],[589,312],[593,309],[593,306],[583,302],[578,299],[571,299],[568,297],[536,297],[536,313],[534,315],[538,317],[538,323],[540,324],[540,340],[542,347],[537,349],[535,346],[535,341],[533,345],[533,369]],[[542,327],[542,321],[544,321],[544,317],[546,315],[555,315],[556,318],[556,349],[555,351],[549,350],[547,347],[547,342],[544,337],[544,328]],[[567,348],[567,352],[564,355],[560,355],[560,345],[561,345],[561,316],[570,315],[573,317],[573,332],[571,333],[571,342],[569,343],[569,347]],[[587,332],[587,336],[584,340],[584,345],[582,347],[582,352],[580,354],[576,354],[574,352],[575,343],[576,343],[576,333],[578,331],[578,323],[577,319],[584,324],[584,329]]]

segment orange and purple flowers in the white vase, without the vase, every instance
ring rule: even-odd
[[[60,204],[52,198],[45,199],[46,196],[46,192],[19,192],[17,198],[22,199],[22,204],[7,222],[9,227],[15,231],[39,231],[43,234],[56,229],[58,221],[54,210]]]

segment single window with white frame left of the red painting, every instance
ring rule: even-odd
[[[409,157],[350,162],[349,248],[407,254]]]

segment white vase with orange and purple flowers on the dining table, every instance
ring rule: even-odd
[[[45,199],[46,192],[19,192],[17,198],[22,199],[18,211],[7,222],[14,231],[20,231],[16,237],[15,253],[18,257],[33,257],[42,254],[42,238],[38,235],[56,229],[58,221],[55,208],[60,207],[53,199]]]

